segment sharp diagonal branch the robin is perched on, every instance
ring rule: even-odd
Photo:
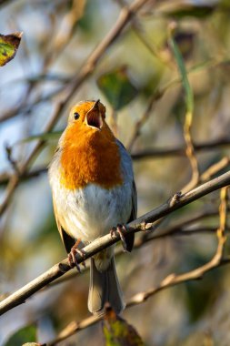
[[[127,233],[135,233],[140,230],[148,229],[151,224],[153,224],[157,219],[161,219],[165,215],[170,214],[176,209],[180,209],[185,205],[193,202],[194,200],[201,198],[208,193],[215,191],[218,188],[223,188],[230,184],[230,171],[227,173],[214,178],[207,183],[199,186],[198,188],[193,189],[180,195],[179,193],[175,194],[173,198],[170,198],[167,202],[162,204],[160,207],[146,213],[142,217],[135,219],[127,225]],[[115,234],[115,238],[112,239],[110,234],[105,235],[102,238],[95,239],[91,244],[85,246],[83,252],[85,253],[84,257],[76,255],[76,260],[78,263],[83,262],[84,260],[92,257],[95,253],[101,251],[102,249],[108,248],[112,244],[115,244],[120,240],[118,233]],[[41,290],[45,285],[54,281],[55,279],[61,277],[65,272],[69,271],[71,268],[68,264],[68,260],[65,259],[58,264],[55,264],[50,270],[45,271],[44,274],[37,277],[35,280],[29,282],[22,289],[17,290],[15,293],[10,295],[8,298],[3,300],[0,303],[0,315],[4,314],[6,311],[14,308],[17,305],[25,302],[27,298],[32,296],[37,290]]]

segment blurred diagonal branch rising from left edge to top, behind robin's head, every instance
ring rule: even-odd
[[[145,3],[147,3],[148,0],[135,0],[131,5],[125,6],[121,12],[120,15],[115,22],[115,25],[112,27],[112,29],[107,33],[105,38],[99,43],[98,46],[95,47],[95,50],[92,52],[90,56],[85,61],[85,64],[80,69],[80,72],[77,76],[75,76],[71,83],[69,83],[68,86],[66,86],[65,89],[65,96],[63,99],[56,104],[55,111],[50,118],[49,122],[45,126],[45,133],[50,131],[57,122],[58,118],[61,116],[63,110],[65,109],[65,106],[67,102],[73,97],[76,90],[83,84],[85,79],[91,75],[92,72],[95,70],[95,66],[101,59],[101,57],[105,54],[105,51],[109,46],[111,46],[115,39],[121,34],[125,26],[128,24],[132,16],[135,12],[139,11]],[[10,178],[8,185],[5,189],[5,197],[0,205],[0,215],[2,215],[7,208],[7,205],[10,201],[10,198],[13,196],[13,193],[15,191],[15,188],[18,186],[18,183],[20,181],[20,176],[24,175],[28,166],[31,164],[35,156],[38,154],[40,149],[43,147],[44,141],[39,140],[37,144],[35,145],[35,148],[29,155],[29,157],[25,160],[22,168],[20,169],[20,175],[15,174]]]

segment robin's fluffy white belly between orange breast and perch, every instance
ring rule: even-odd
[[[132,187],[125,183],[109,190],[89,184],[66,190],[55,180],[53,195],[62,227],[87,243],[105,235],[117,223],[125,223],[132,209]]]

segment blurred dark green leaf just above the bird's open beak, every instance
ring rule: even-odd
[[[128,76],[126,66],[100,76],[97,85],[115,110],[125,107],[138,93],[138,88]]]

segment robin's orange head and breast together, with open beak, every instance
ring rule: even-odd
[[[66,188],[84,187],[89,182],[112,188],[123,183],[120,150],[99,100],[81,101],[72,107],[58,148]]]

